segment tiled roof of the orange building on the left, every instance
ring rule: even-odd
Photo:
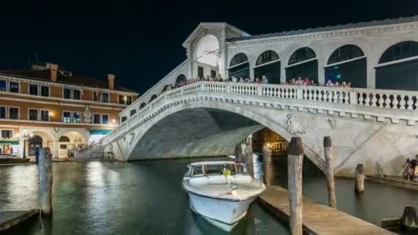
[[[0,71],[0,74],[8,75],[8,76],[18,76],[25,79],[31,80],[39,80],[50,82],[51,81],[51,72],[50,69],[44,70],[3,70]],[[83,86],[83,87],[98,87],[100,89],[109,89],[107,82],[98,80],[96,78],[90,78],[84,75],[72,74],[72,76],[66,76],[61,74],[60,72],[57,73],[57,82],[60,84],[67,84],[67,85],[76,85],[76,86]],[[126,91],[131,93],[137,93],[137,91],[133,91],[131,89],[126,89],[124,87],[115,86],[115,91]]]

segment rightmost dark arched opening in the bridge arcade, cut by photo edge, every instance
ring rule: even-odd
[[[376,88],[418,91],[418,42],[404,41],[386,49],[376,67]]]

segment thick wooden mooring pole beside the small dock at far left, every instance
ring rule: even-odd
[[[41,214],[52,214],[52,156],[50,148],[41,148],[39,153],[39,205]]]

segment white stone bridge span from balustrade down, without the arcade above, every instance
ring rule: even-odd
[[[267,127],[285,139],[300,136],[305,155],[324,168],[322,139],[331,136],[334,168],[352,175],[365,165],[399,175],[418,153],[417,92],[230,82],[195,82],[162,93],[104,137],[117,159],[229,155],[235,144]],[[136,112],[131,112],[135,109]]]

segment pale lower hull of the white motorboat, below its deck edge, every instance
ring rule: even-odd
[[[230,201],[188,192],[190,209],[210,223],[230,231],[245,216],[254,198]]]

